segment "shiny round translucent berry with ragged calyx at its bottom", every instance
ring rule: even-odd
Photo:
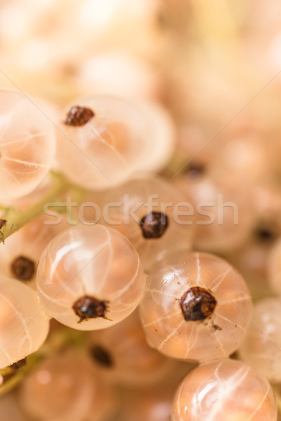
[[[37,272],[46,312],[79,330],[106,328],[136,308],[145,275],[136,250],[115,229],[77,225],[53,239]]]

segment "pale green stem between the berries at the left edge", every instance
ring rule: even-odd
[[[51,171],[51,179],[51,187],[46,194],[30,208],[18,210],[13,207],[0,206],[0,208],[4,210],[0,219],[0,243],[4,243],[8,236],[15,231],[18,231],[18,229],[27,224],[27,222],[30,222],[41,215],[46,203],[58,201],[60,195],[67,192],[68,189],[74,190],[75,192],[77,191],[79,192],[79,195],[81,195],[81,189],[67,182],[63,175]],[[57,212],[64,212],[66,209],[64,207],[56,207],[55,210]]]

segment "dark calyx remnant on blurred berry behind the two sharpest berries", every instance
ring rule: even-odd
[[[145,239],[159,239],[169,225],[168,217],[161,212],[150,212],[140,222]]]

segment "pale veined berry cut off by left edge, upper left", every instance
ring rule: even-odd
[[[0,90],[0,199],[32,192],[53,162],[53,124],[23,93]]]

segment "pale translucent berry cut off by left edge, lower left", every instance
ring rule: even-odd
[[[48,335],[48,316],[29,286],[0,276],[0,368],[37,351]]]

